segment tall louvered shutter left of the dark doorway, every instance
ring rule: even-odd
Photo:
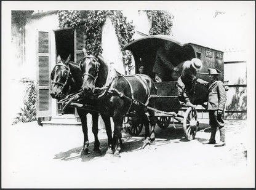
[[[38,31],[37,44],[37,117],[51,116],[50,104],[50,33]]]

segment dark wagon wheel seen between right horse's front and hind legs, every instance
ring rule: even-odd
[[[143,129],[142,120],[135,117],[128,117],[126,122],[126,131],[133,137],[140,135]]]

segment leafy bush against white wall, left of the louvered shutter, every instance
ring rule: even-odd
[[[26,91],[23,99],[23,108],[21,108],[21,112],[17,114],[17,117],[15,117],[13,124],[36,121],[36,86],[34,85],[34,81],[23,78],[20,82],[25,85]]]

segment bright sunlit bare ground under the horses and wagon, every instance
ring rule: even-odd
[[[156,127],[156,144],[145,149],[143,132],[130,137],[123,131],[121,158],[105,156],[105,130],[98,134],[102,154],[92,151],[89,129],[90,154],[81,156],[81,127],[2,126],[2,188],[254,187],[254,142],[247,138],[252,126],[226,121],[226,146],[215,148],[202,144],[210,137],[204,123],[193,141],[182,129]]]

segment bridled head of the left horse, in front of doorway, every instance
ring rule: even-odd
[[[60,55],[57,57],[57,64],[52,69],[50,79],[52,80],[52,90],[50,95],[55,99],[62,99],[70,92],[71,72],[69,68],[70,55],[66,60],[62,60]]]

